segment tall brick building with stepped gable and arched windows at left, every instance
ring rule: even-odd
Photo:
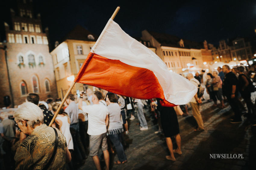
[[[42,31],[40,14],[33,15],[32,1],[17,1],[17,11],[10,9],[11,23],[5,24],[6,53],[0,52],[1,72],[9,74],[10,85],[0,88],[0,99],[4,91],[11,91],[13,105],[25,101],[28,93],[37,93],[41,100],[57,97],[52,56],[48,47],[48,28]],[[2,82],[8,79],[1,77]],[[2,85],[3,86],[3,85]]]

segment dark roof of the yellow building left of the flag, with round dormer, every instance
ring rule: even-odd
[[[95,39],[88,39],[88,35],[92,35]],[[69,33],[67,33],[61,42],[71,39],[71,40],[83,40],[83,41],[96,41],[98,36],[83,28],[81,25],[76,25]]]

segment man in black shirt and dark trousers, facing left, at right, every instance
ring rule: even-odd
[[[230,71],[228,65],[224,65],[222,67],[223,72],[225,73],[225,79],[223,80],[223,93],[227,97],[229,105],[234,111],[234,118],[231,119],[230,123],[241,123],[242,118],[239,111],[239,101],[237,98],[237,88],[236,85],[238,84],[238,80],[236,75]]]

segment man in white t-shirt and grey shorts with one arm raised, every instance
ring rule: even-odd
[[[83,95],[82,92],[80,94]],[[108,126],[108,109],[106,106],[99,104],[102,98],[100,91],[94,91],[92,94],[93,105],[83,106],[83,97],[78,102],[78,108],[83,110],[84,114],[88,114],[88,131],[89,134],[89,156],[92,156],[93,162],[98,170],[101,169],[98,158],[99,148],[104,154],[107,169],[109,169],[109,153],[107,143],[107,126]]]

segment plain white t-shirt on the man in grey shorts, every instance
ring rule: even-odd
[[[102,104],[82,106],[84,114],[88,114],[88,131],[89,135],[100,135],[107,132],[106,117],[108,109]]]

